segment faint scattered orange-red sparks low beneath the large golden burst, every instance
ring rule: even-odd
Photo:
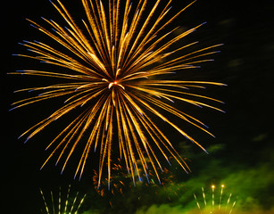
[[[94,170],[93,176],[96,193],[108,199],[111,207],[115,204],[115,200],[120,198],[120,196],[126,198],[132,194],[136,196],[136,202],[146,201],[147,195],[150,195],[149,197],[156,197],[158,199],[164,198],[173,201],[174,198],[179,198],[178,192],[185,186],[174,182],[177,177],[171,172],[171,170],[166,168],[163,168],[159,173],[161,183],[157,182],[157,177],[152,169],[148,169],[147,175],[144,171],[140,172],[140,177],[135,175],[137,181],[133,182],[127,169],[123,167],[120,159],[113,162],[115,163],[113,163],[112,167],[111,184],[108,182],[107,178],[104,178],[101,181],[101,185],[98,186],[98,173],[96,170]],[[150,165],[150,161],[147,161],[147,164]],[[118,196],[118,198],[113,197],[113,195]]]

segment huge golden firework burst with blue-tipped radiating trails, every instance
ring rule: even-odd
[[[139,176],[140,167],[137,166],[137,161],[141,161],[141,169],[147,175],[145,160],[148,158],[160,182],[157,168],[162,169],[162,165],[158,158],[158,151],[167,161],[169,161],[169,155],[173,156],[183,169],[189,171],[187,163],[174,149],[168,137],[163,134],[153,119],[150,119],[151,113],[163,119],[170,127],[205,151],[201,144],[172,122],[165,113],[185,120],[212,136],[202,121],[184,111],[179,111],[171,104],[174,101],[180,101],[221,111],[203,102],[221,103],[219,100],[187,93],[184,90],[195,87],[203,88],[205,85],[224,86],[224,84],[206,81],[157,80],[157,77],[174,73],[177,70],[198,68],[197,63],[212,61],[204,57],[218,53],[212,49],[220,45],[212,45],[186,53],[185,49],[197,42],[178,47],[179,41],[203,24],[175,37],[172,37],[172,33],[178,28],[168,32],[164,32],[163,29],[194,2],[188,4],[170,19],[167,18],[167,14],[170,13],[171,1],[163,9],[159,6],[160,2],[162,1],[157,0],[149,11],[147,0],[140,0],[136,7],[130,4],[129,0],[125,4],[121,4],[120,0],[109,0],[108,5],[97,0],[82,0],[87,21],[82,21],[85,28],[80,29],[64,5],[57,0],[56,3],[51,3],[68,27],[62,27],[53,20],[42,18],[50,26],[48,30],[37,22],[30,21],[31,26],[52,38],[66,51],[59,51],[54,46],[39,41],[23,41],[21,45],[27,47],[32,54],[16,55],[59,66],[66,71],[17,70],[12,74],[59,78],[61,81],[63,79],[70,82],[16,91],[39,94],[12,103],[15,106],[12,109],[54,97],[62,96],[65,100],[60,109],[29,128],[21,136],[29,135],[27,142],[54,120],[82,107],[79,116],[73,119],[46,147],[46,150],[53,148],[53,152],[50,153],[42,168],[58,151],[60,153],[56,164],[64,158],[63,171],[80,140],[84,134],[87,134],[88,139],[75,177],[82,176],[88,153],[94,147],[95,151],[100,152],[98,186],[100,186],[105,165],[107,165],[110,183],[112,142],[115,134],[119,140],[120,158],[124,158],[133,179],[135,175]],[[159,108],[162,111],[158,111]],[[117,133],[115,133],[116,129]],[[63,157],[65,153],[68,153],[66,158]]]

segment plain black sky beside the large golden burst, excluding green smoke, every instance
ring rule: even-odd
[[[68,1],[62,2],[65,4]],[[174,0],[172,5],[178,10],[189,2]],[[75,19],[85,18],[84,14],[79,14],[80,1],[79,7],[77,5],[69,3],[68,9],[73,11],[71,13],[75,15]],[[12,56],[12,53],[23,52],[18,43],[23,39],[40,38],[40,34],[29,26],[25,18],[42,22],[40,16],[54,20],[58,20],[59,16],[46,0],[5,1],[2,10],[1,41],[4,50],[4,69],[1,74],[5,98],[2,110],[4,137],[1,145],[1,163],[4,169],[4,193],[1,191],[1,194],[5,201],[2,207],[9,210],[5,213],[30,213],[30,210],[37,210],[41,204],[40,199],[37,199],[40,197],[40,186],[50,190],[59,185],[72,183],[79,188],[88,189],[88,173],[92,170],[81,182],[74,181],[70,172],[61,176],[60,167],[55,168],[54,164],[49,164],[40,171],[39,167],[46,159],[46,140],[53,137],[50,136],[51,133],[45,130],[27,144],[23,144],[23,139],[17,139],[26,128],[46,117],[50,111],[43,103],[35,105],[35,109],[29,106],[8,111],[12,102],[22,98],[12,91],[31,86],[33,79],[5,73],[24,69],[28,66],[26,63],[30,62]],[[265,157],[269,155],[268,152],[274,152],[273,10],[271,0],[246,1],[245,4],[239,1],[200,0],[178,21],[179,25],[186,25],[188,28],[207,21],[202,29],[195,32],[193,41],[199,39],[204,46],[224,44],[220,48],[221,53],[214,56],[215,62],[203,64],[203,68],[190,78],[216,80],[228,84],[217,91],[216,88],[209,91],[226,103],[222,106],[226,113],[210,111],[203,115],[203,120],[208,122],[212,132],[217,136],[216,139],[210,140],[212,144],[225,144],[225,150],[217,154],[216,158],[227,163],[233,162],[237,165],[238,162],[252,166],[258,162],[269,161]],[[206,143],[209,138],[203,137],[200,139],[204,139],[204,144],[209,145]],[[273,157],[272,154],[270,156]],[[204,157],[206,159],[206,156]]]

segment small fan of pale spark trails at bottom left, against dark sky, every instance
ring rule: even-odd
[[[76,195],[71,195],[71,185],[69,185],[68,191],[62,193],[61,187],[59,193],[54,194],[52,191],[50,194],[45,195],[40,189],[45,208],[41,209],[42,213],[46,214],[78,214],[82,203],[85,200],[86,194],[80,196],[79,192]]]

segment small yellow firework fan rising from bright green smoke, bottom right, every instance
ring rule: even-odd
[[[235,205],[236,198],[232,193],[224,193],[225,185],[220,185],[220,191],[217,191],[216,185],[211,186],[211,193],[204,193],[202,187],[202,196],[197,197],[194,193],[196,205],[203,214],[231,214]],[[200,199],[199,199],[200,198]]]

